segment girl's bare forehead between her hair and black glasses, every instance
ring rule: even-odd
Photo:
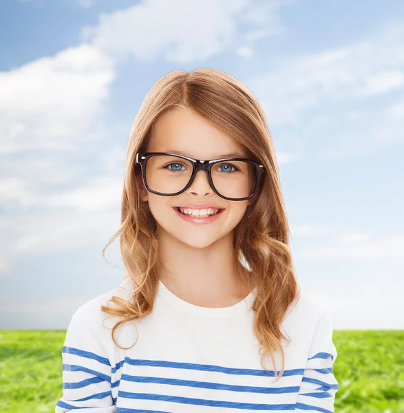
[[[197,159],[246,157],[246,149],[190,109],[173,108],[154,123],[148,152],[174,152]]]

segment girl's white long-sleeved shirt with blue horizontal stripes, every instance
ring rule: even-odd
[[[207,308],[159,281],[152,313],[116,330],[123,350],[111,337],[118,318],[107,319],[100,306],[113,295],[130,299],[128,287],[130,278],[72,316],[55,413],[334,412],[339,384],[330,317],[303,292],[281,323],[290,341],[282,341],[285,371],[275,381],[270,357],[268,370],[261,366],[253,334],[256,289],[233,306]],[[279,371],[279,352],[275,361]]]

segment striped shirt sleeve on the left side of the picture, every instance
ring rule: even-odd
[[[116,413],[111,395],[111,363],[86,306],[74,313],[62,350],[63,395],[55,413]]]

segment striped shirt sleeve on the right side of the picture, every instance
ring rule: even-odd
[[[295,412],[334,412],[339,383],[332,365],[337,349],[332,342],[332,324],[326,311],[321,315],[310,345]]]

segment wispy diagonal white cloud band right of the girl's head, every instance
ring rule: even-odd
[[[392,24],[369,41],[273,62],[273,70],[254,74],[246,83],[256,91],[270,125],[299,123],[306,109],[403,87],[403,41],[404,30]]]

